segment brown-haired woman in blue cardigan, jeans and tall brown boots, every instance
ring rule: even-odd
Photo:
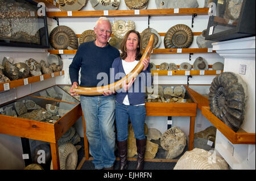
[[[142,57],[141,36],[139,32],[131,30],[126,33],[121,43],[121,56],[115,58],[112,64],[115,81],[125,77],[135,68]],[[143,60],[144,68],[138,77],[124,84],[123,88],[117,91],[115,100],[115,123],[117,127],[117,141],[120,158],[119,169],[127,168],[127,138],[129,117],[133,125],[136,138],[138,164],[137,170],[143,169],[144,154],[146,151],[147,138],[144,134],[144,123],[146,108],[144,106],[145,87],[151,86],[152,76],[150,71],[149,58]]]

